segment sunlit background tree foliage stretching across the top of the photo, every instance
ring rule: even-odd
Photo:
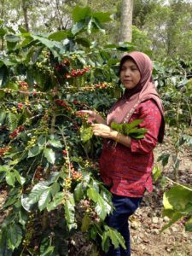
[[[104,23],[102,28],[107,33],[92,35],[90,38],[97,44],[107,41],[117,44],[120,26],[120,6],[122,1],[8,1],[0,2],[0,20],[5,26],[20,28],[26,26],[26,17],[30,31],[55,32],[65,31],[73,26],[70,14],[79,4],[81,7],[90,6],[96,13],[101,10],[108,12],[113,22]],[[25,3],[25,4],[24,4]],[[133,8],[133,43],[137,49],[150,53],[156,60],[162,61],[167,55],[172,58],[179,56],[189,60],[192,52],[191,44],[191,14],[192,4],[189,1],[160,1],[135,0]],[[107,15],[108,16],[108,15]],[[1,36],[1,35],[0,35]],[[4,45],[2,42],[1,49]]]

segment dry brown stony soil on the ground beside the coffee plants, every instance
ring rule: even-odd
[[[166,138],[166,143],[155,148],[155,159],[162,152],[174,153],[174,147],[168,138]],[[182,148],[179,159],[181,162],[178,170],[178,183],[191,185],[191,148]],[[166,177],[173,179],[172,162],[168,163],[163,173]],[[170,185],[172,183],[167,184],[167,186]],[[6,196],[6,188],[1,189],[0,225],[7,214],[2,210]],[[162,216],[162,196],[163,189],[160,182],[157,182],[154,184],[154,191],[144,195],[141,207],[130,218],[132,256],[192,256],[192,234],[185,232],[183,219],[160,233],[161,228],[169,221],[168,218]]]

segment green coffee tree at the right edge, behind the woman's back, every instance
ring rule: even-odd
[[[180,153],[183,147],[192,147],[192,62],[166,59],[154,65],[154,79],[158,81],[159,91],[165,107],[166,133],[172,138],[172,152],[163,152],[158,161],[162,166],[172,168],[172,178],[161,175],[161,180],[173,184],[163,195],[163,214],[170,222],[162,230],[170,227],[178,219],[185,218],[185,230],[192,231],[192,187],[178,183]],[[154,168],[154,177],[160,176],[160,168]]]

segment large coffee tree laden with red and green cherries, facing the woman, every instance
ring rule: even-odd
[[[104,223],[113,207],[93,160],[101,141],[87,140],[77,111],[105,114],[119,94],[113,49],[132,46],[90,42],[109,14],[76,7],[73,20],[72,29],[46,35],[1,24],[0,180],[9,191],[1,255],[73,255],[78,234],[90,242],[87,253],[125,247]]]

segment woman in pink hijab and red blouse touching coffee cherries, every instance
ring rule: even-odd
[[[151,171],[154,163],[153,149],[162,143],[165,122],[163,107],[152,82],[152,63],[141,52],[126,54],[120,61],[119,79],[125,86],[125,93],[114,103],[107,120],[93,111],[88,113],[93,132],[106,138],[100,159],[103,183],[113,195],[113,213],[108,216],[109,226],[118,230],[125,238],[126,250],[113,246],[107,255],[131,255],[128,218],[137,210],[145,189],[152,191]],[[129,123],[143,119],[140,128],[146,128],[143,139],[125,136],[110,128],[112,122]]]

